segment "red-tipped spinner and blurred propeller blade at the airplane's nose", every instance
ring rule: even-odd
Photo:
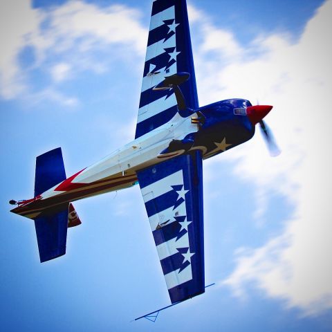
[[[256,105],[247,107],[247,115],[252,124],[259,123],[261,127],[261,133],[263,138],[268,146],[268,151],[270,152],[270,156],[279,156],[281,153],[279,147],[277,147],[277,143],[275,142],[275,138],[273,138],[272,131],[268,128],[266,122],[263,121],[263,118],[268,114],[268,112],[273,107],[270,105]]]

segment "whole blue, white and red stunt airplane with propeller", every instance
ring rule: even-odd
[[[199,106],[185,0],[155,0],[135,139],[66,177],[61,148],[37,156],[33,199],[11,212],[33,219],[41,262],[66,253],[73,201],[139,184],[172,304],[205,291],[202,161],[254,136],[273,107],[232,98]],[[143,316],[144,317],[144,316]]]

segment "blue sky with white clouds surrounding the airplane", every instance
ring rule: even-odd
[[[170,304],[138,186],[74,203],[66,255],[39,263],[35,156],[67,176],[133,139],[151,1],[0,2],[3,331],[332,331],[332,1],[187,0],[201,106],[272,104],[259,131],[203,163],[204,295]]]

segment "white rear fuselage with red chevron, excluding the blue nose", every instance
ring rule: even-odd
[[[198,131],[198,124],[192,123],[192,118],[196,117],[196,113],[187,118],[182,118],[176,113],[174,118],[163,126],[136,138],[98,163],[82,169],[34,199],[21,201],[12,212],[33,219],[44,210],[56,209],[79,199],[131,187],[137,183],[136,172],[139,169],[183,153],[184,150],[180,150],[160,155],[172,140],[182,140],[189,133]]]

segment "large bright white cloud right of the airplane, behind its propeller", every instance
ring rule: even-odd
[[[195,15],[197,21],[200,12]],[[326,1],[295,44],[286,35],[261,36],[246,49],[229,32],[210,29],[203,17],[204,47],[195,57],[201,104],[243,97],[274,105],[266,120],[281,156],[270,158],[258,133],[228,159],[239,178],[255,181],[257,198],[272,190],[295,207],[279,237],[237,253],[225,284],[241,294],[254,282],[305,314],[332,308],[332,45],[324,37],[332,30],[331,15],[332,1]],[[232,52],[225,52],[227,41]],[[259,204],[261,218],[266,206]]]

